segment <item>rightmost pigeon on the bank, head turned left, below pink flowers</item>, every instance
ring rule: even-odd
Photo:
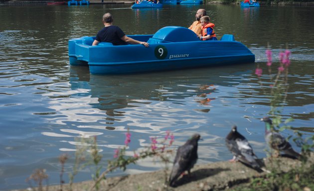
[[[282,151],[290,157],[301,159],[301,155],[292,148],[285,137],[274,131],[272,120],[269,117],[263,117],[261,121],[265,122],[265,140],[272,149],[278,152],[278,155]]]

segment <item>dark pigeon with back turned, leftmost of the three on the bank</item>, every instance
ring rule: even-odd
[[[197,146],[199,134],[194,134],[184,145],[180,146],[174,158],[172,171],[169,178],[169,185],[173,187],[174,181],[185,171],[190,175],[190,170],[197,161]]]

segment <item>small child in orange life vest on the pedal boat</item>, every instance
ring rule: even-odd
[[[209,16],[202,16],[199,21],[202,25],[202,33],[198,37],[201,40],[217,40],[214,31],[215,24],[209,22]]]

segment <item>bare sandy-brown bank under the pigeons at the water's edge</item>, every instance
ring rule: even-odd
[[[288,172],[293,168],[299,168],[301,162],[290,158],[263,159],[266,169],[275,168],[279,172]],[[306,169],[314,165],[314,154],[306,163]],[[170,172],[168,171],[167,174]],[[184,176],[177,182],[176,188],[168,188],[164,185],[165,174],[160,170],[152,173],[143,173],[123,177],[113,177],[101,182],[101,191],[212,191],[226,190],[232,186],[246,183],[251,178],[263,177],[266,172],[257,171],[246,167],[240,162],[216,162],[204,165],[196,165],[191,171],[191,177]],[[88,191],[93,185],[92,181],[75,183],[73,191]],[[60,186],[50,186],[48,191],[59,191]],[[63,185],[63,191],[69,191],[68,185]],[[27,191],[14,190],[14,191]]]

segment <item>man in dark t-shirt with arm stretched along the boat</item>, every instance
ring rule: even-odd
[[[93,46],[98,45],[100,42],[111,42],[113,45],[143,44],[145,47],[150,46],[147,42],[128,37],[119,26],[112,25],[113,17],[109,12],[103,15],[103,23],[105,27],[97,33]]]

